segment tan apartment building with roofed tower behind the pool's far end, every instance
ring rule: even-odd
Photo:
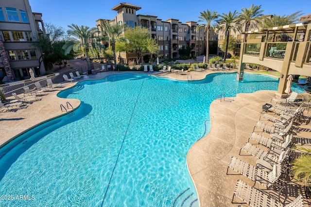
[[[204,28],[196,31],[199,25],[197,22],[188,21],[180,22],[178,19],[162,20],[156,16],[137,14],[140,6],[130,3],[120,3],[111,10],[117,12],[111,23],[125,23],[126,26],[134,28],[136,26],[148,28],[150,36],[154,38],[158,44],[159,53],[157,57],[160,60],[168,58],[178,58],[178,50],[183,46],[191,47],[191,56],[202,55],[206,52],[206,34]],[[97,27],[101,30],[101,19],[96,21]],[[102,34],[100,34],[102,35]],[[212,31],[210,41],[217,41],[217,35]],[[150,58],[155,58],[154,54],[143,54],[143,61],[147,63]],[[127,63],[128,60],[136,58],[134,54],[120,52],[118,54],[121,63]]]

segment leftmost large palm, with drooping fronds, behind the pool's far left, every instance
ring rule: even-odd
[[[69,36],[74,36],[76,38],[79,39],[78,42],[74,42],[74,41],[69,41],[66,43],[66,45],[64,45],[64,49],[66,49],[65,54],[68,54],[72,49],[73,51],[77,51],[79,48],[83,48],[85,55],[86,55],[86,64],[87,64],[87,69],[91,70],[94,69],[94,66],[91,64],[91,61],[89,59],[89,49],[91,47],[90,43],[89,43],[89,39],[91,37],[93,37],[93,34],[95,32],[97,32],[97,28],[93,27],[93,28],[89,28],[87,26],[78,26],[76,24],[71,24],[68,25],[68,27],[70,28],[67,31],[67,34]]]

